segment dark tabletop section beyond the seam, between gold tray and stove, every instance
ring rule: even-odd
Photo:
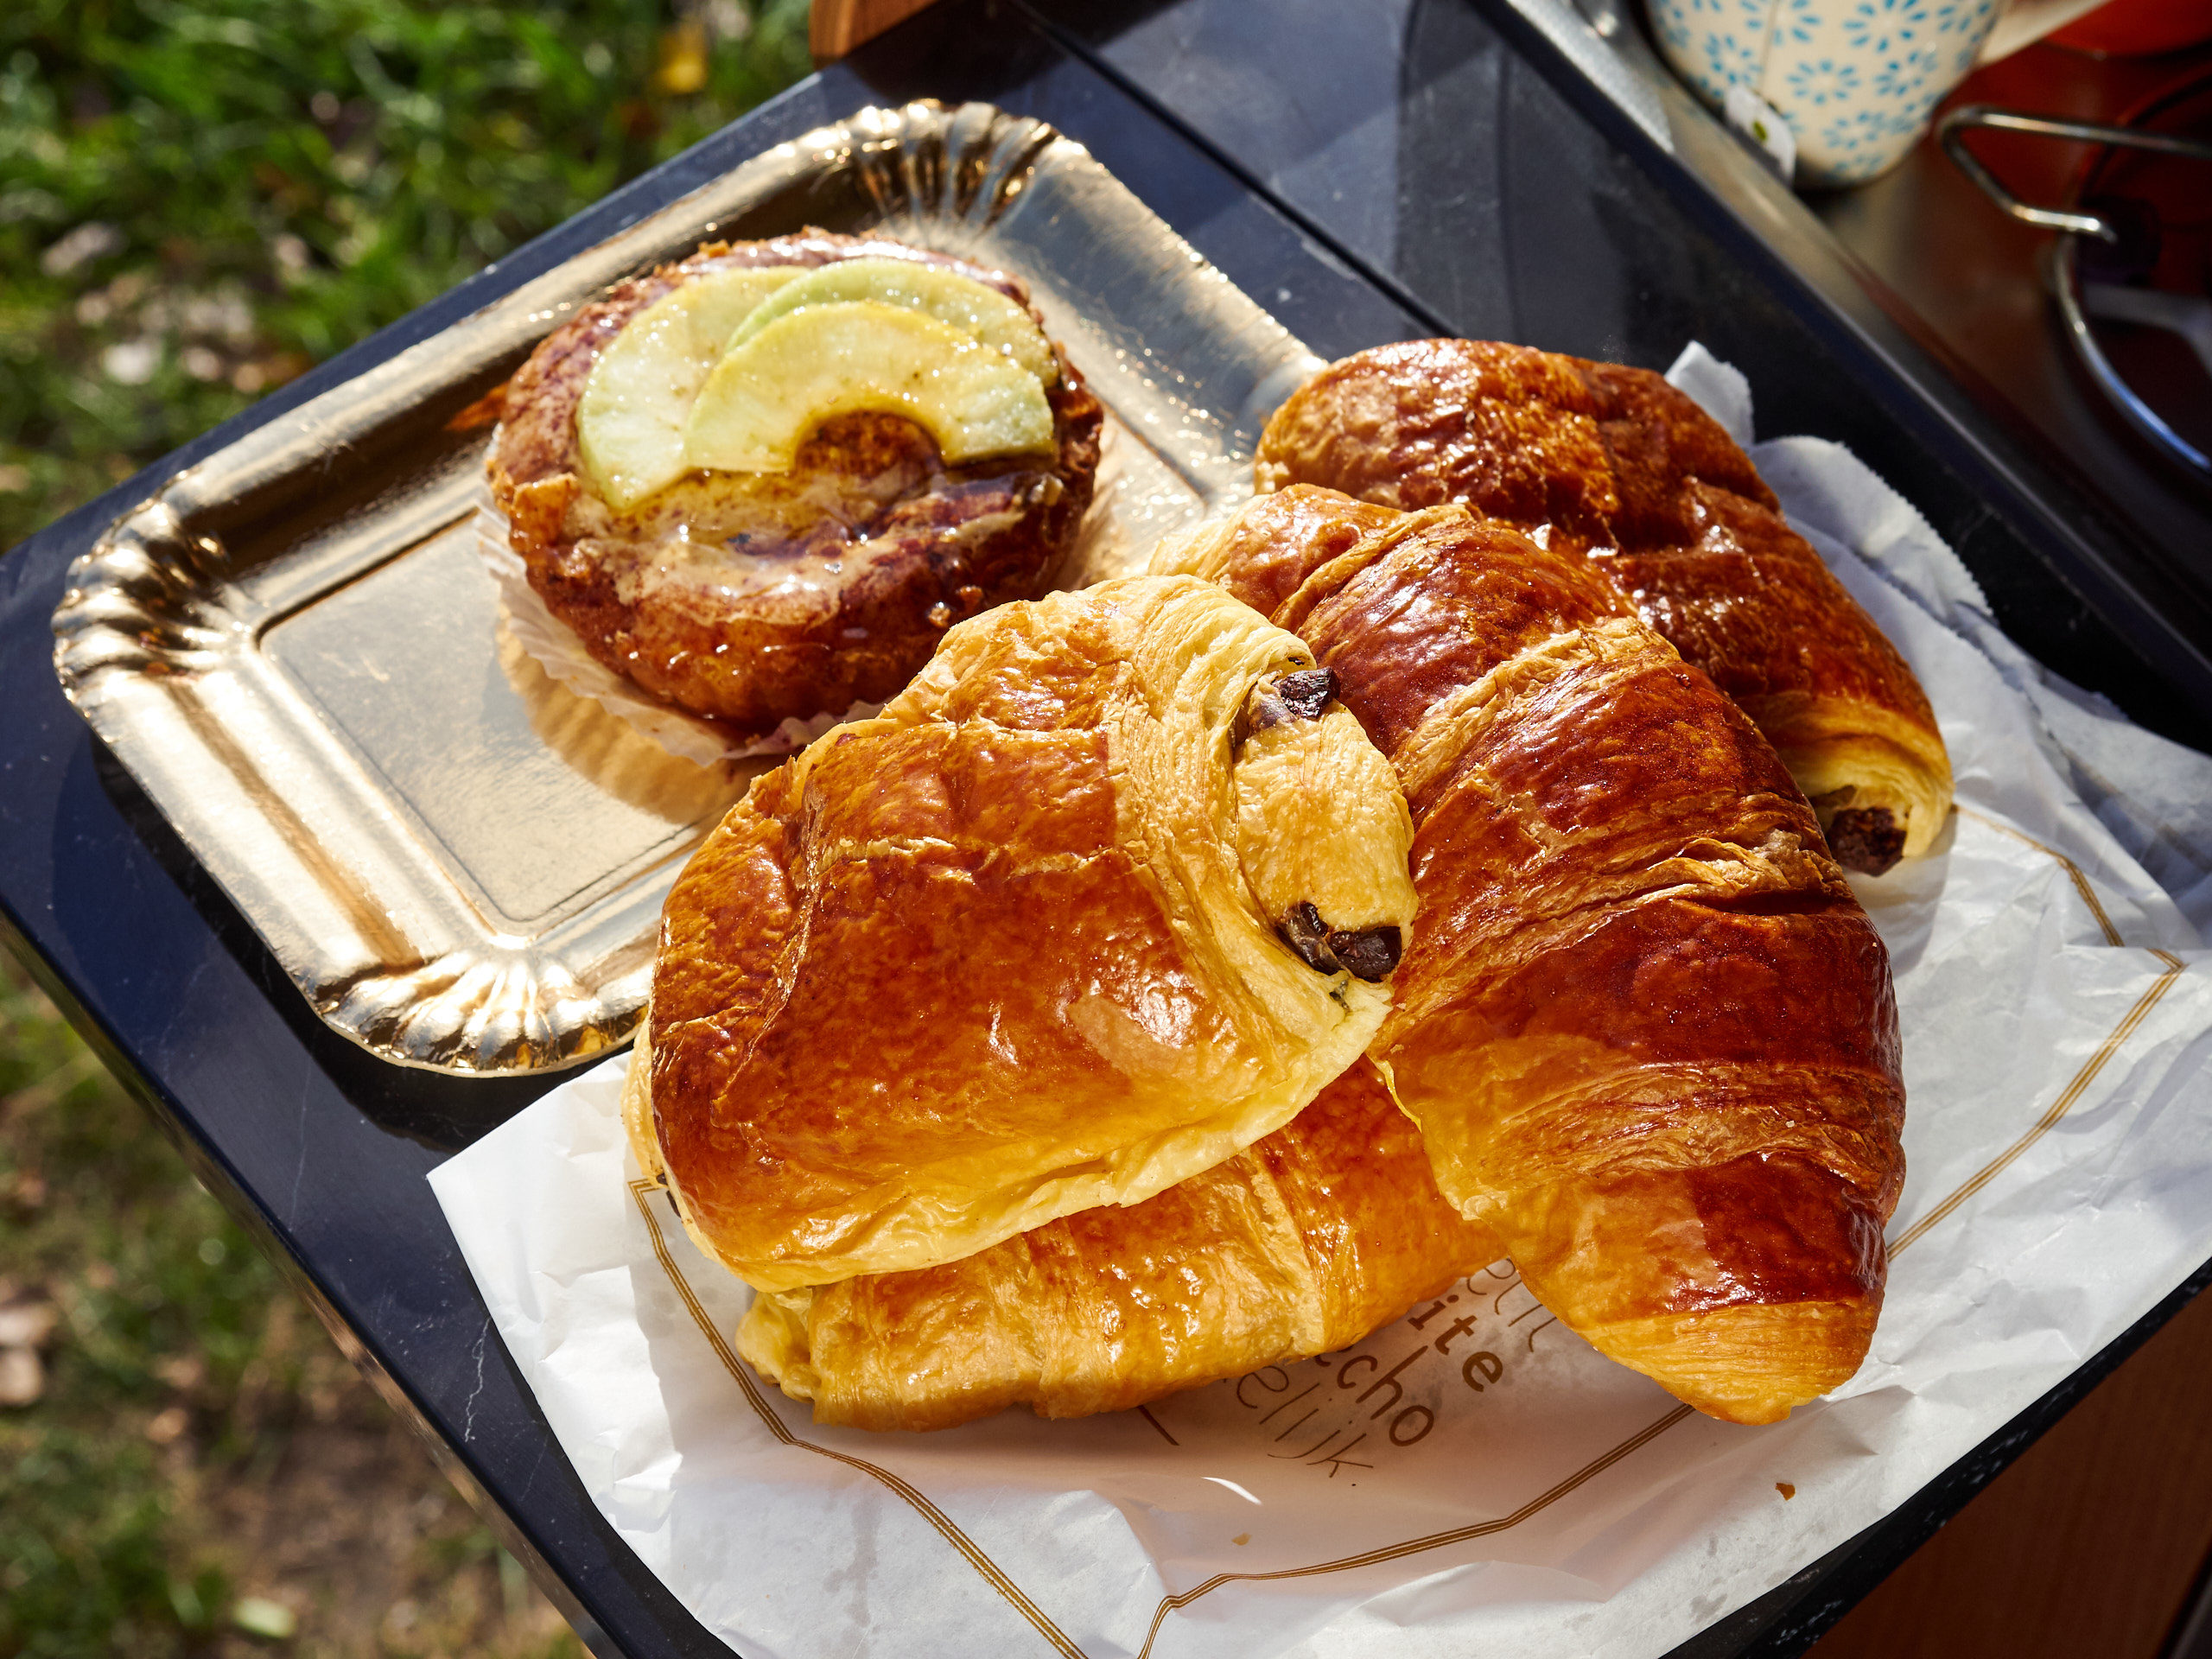
[[[1265,29],[1239,0],[1035,4],[1425,330],[1655,369],[1701,338],[1750,376],[1761,436],[1834,438],[1905,487],[2013,639],[2212,748],[2212,546],[2154,544],[2075,491],[1867,303],[1809,212],[1790,204],[1801,246],[1776,252],[1772,219],[1699,188],[1511,4],[1296,4]],[[1677,122],[1710,126],[1694,104]],[[1803,243],[1825,243],[1825,290]]]

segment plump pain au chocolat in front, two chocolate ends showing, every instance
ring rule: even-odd
[[[1221,588],[991,611],[677,878],[639,1164],[761,1290],[1148,1199],[1376,1033],[1409,843],[1329,675]]]

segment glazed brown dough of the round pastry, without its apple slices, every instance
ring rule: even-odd
[[[940,265],[1029,303],[1011,276],[880,237],[710,243],[546,336],[489,460],[553,615],[617,675],[739,734],[894,695],[947,626],[1040,593],[1091,504],[1104,411],[1064,358],[1055,453],[947,467],[922,427],[865,411],[816,427],[787,473],[699,471],[626,511],[593,491],[577,405],[628,321],[710,272],[849,259]]]

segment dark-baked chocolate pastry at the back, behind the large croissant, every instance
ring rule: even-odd
[[[1951,814],[1920,681],[1734,440],[1648,369],[1484,341],[1360,352],[1267,422],[1259,487],[1464,502],[1588,555],[1783,757],[1829,847],[1880,874]]]

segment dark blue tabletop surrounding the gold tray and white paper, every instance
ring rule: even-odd
[[[1765,429],[1843,438],[1929,511],[2017,637],[2084,684],[2161,703],[2183,737],[2208,730],[2170,664],[2062,577],[2051,526],[2066,504],[2022,500],[2015,473],[1982,465],[1955,416],[1858,349],[1506,7],[1285,0],[1254,15],[947,0],[0,560],[9,942],[595,1644],[728,1652],[591,1506],[422,1181],[557,1079],[403,1071],[330,1033],[53,679],[69,562],[197,456],[776,142],[865,104],[978,97],[1084,142],[1327,356],[1451,330],[1663,367],[1703,338],[1752,376]],[[1683,1655],[1801,1650],[2197,1283],[1916,1504]]]

